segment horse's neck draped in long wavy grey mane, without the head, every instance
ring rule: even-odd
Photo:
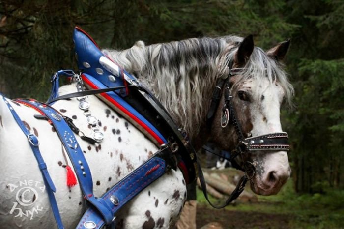
[[[193,141],[206,121],[210,98],[220,73],[219,62],[226,42],[221,39],[188,39],[116,52],[105,50],[116,62],[136,75],[159,99],[174,121]],[[201,136],[201,137],[200,137]]]

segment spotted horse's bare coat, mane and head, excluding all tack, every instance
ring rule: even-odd
[[[289,41],[264,52],[255,47],[252,36],[191,38],[103,53],[149,88],[189,135],[195,149],[206,141],[231,151],[238,143],[232,125],[221,127],[220,105],[211,123],[207,123],[210,98],[218,79],[228,76],[229,63],[240,72],[230,78],[233,106],[243,135],[247,138],[281,132],[280,107],[291,102],[293,87],[283,70],[282,60]],[[59,94],[77,91],[75,83],[61,86]],[[56,223],[37,162],[28,139],[22,134],[3,96],[0,96],[0,222],[1,228],[55,228]],[[143,133],[96,96],[87,98],[92,115],[104,140],[91,145],[76,136],[93,177],[95,196],[101,196],[128,173],[157,151]],[[57,204],[65,228],[73,228],[86,210],[79,184],[66,186],[66,168],[71,165],[56,130],[34,118],[37,111],[6,100],[23,120],[26,128],[39,138],[40,149],[55,183]],[[86,116],[76,98],[52,105],[73,119],[84,133],[90,133]],[[255,167],[251,189],[259,195],[277,194],[290,176],[286,151],[259,151],[236,158],[238,164],[249,161]],[[69,167],[70,168],[70,167]],[[117,229],[172,228],[186,200],[186,185],[179,169],[165,173],[130,200],[116,214]]]

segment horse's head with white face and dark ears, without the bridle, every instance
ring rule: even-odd
[[[290,103],[293,93],[281,64],[289,43],[282,42],[265,53],[254,47],[252,36],[248,36],[229,49],[225,62],[236,70],[229,79],[230,96],[244,138],[282,132],[280,107],[284,99]],[[221,126],[221,119],[226,118],[221,109],[224,106],[223,95],[212,123],[211,140],[230,151],[239,144],[239,136],[233,125]],[[251,189],[260,195],[277,194],[291,173],[287,151],[260,150],[235,160],[243,168],[245,163],[254,167]]]

